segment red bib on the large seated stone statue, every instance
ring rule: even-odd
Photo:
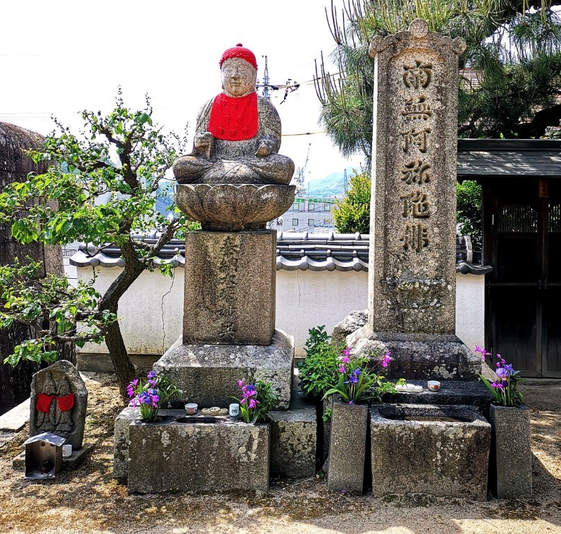
[[[257,135],[257,93],[234,98],[221,92],[210,109],[208,131],[217,139],[243,141]]]

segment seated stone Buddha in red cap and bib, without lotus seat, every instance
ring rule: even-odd
[[[193,151],[174,163],[178,184],[289,184],[294,163],[278,154],[276,109],[256,93],[256,56],[237,44],[219,65],[223,92],[199,111]]]

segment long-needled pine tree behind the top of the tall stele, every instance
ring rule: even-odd
[[[538,138],[561,120],[561,0],[348,0],[328,14],[335,40],[330,74],[323,60],[315,86],[321,123],[342,154],[372,156],[374,63],[369,42],[426,19],[431,31],[461,36],[458,133],[470,138]]]

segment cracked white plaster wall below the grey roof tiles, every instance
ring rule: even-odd
[[[119,302],[119,321],[128,352],[161,355],[183,330],[183,268],[174,279],[144,272]],[[103,292],[121,268],[100,268],[95,287]],[[368,275],[361,271],[278,270],[276,277],[276,327],[294,336],[296,356],[311,327],[333,327],[355,309],[367,308]],[[90,280],[91,268],[78,268],[78,278]],[[483,345],[484,277],[456,277],[456,333],[469,348]],[[107,353],[88,343],[81,353]]]

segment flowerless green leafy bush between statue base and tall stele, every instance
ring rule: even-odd
[[[298,364],[300,389],[310,397],[321,398],[337,380],[341,348],[333,346],[325,326],[308,330],[304,350],[306,357]]]

